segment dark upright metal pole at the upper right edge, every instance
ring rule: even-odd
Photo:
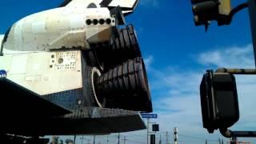
[[[254,45],[254,62],[256,66],[256,0],[248,0],[250,28]]]

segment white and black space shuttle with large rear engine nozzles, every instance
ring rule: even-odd
[[[142,130],[150,88],[133,25],[138,0],[66,0],[0,35],[0,134]]]

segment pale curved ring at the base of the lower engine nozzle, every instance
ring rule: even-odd
[[[84,94],[87,106],[106,106],[106,98],[96,94],[96,79],[101,76],[97,67],[86,66],[84,79]]]

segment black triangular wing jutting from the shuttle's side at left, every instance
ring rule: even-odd
[[[10,118],[50,118],[71,112],[7,78],[0,78],[0,98],[6,121]]]

